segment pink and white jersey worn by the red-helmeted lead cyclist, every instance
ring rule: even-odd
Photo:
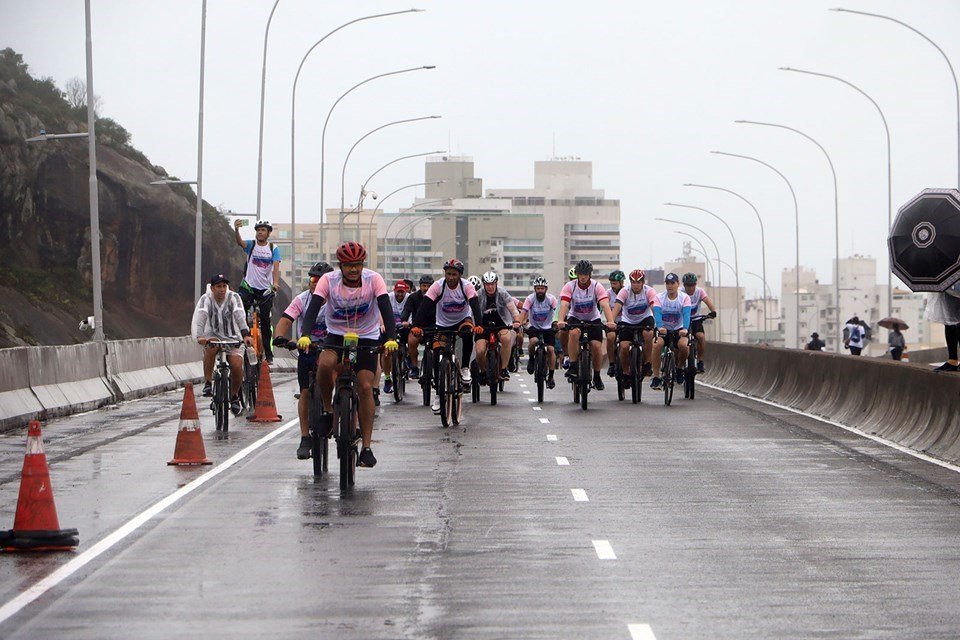
[[[352,288],[343,284],[342,271],[333,271],[320,278],[313,292],[326,300],[324,317],[331,334],[342,336],[352,331],[369,340],[380,337],[377,298],[388,291],[379,273],[364,269],[360,274],[360,286]]]

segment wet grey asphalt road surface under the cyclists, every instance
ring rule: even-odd
[[[284,422],[293,383],[278,380]],[[527,385],[527,386],[522,386]],[[415,391],[418,388],[408,387]],[[524,393],[529,392],[529,393]],[[441,429],[385,404],[341,493],[287,427],[0,622],[2,638],[955,638],[960,474],[702,388],[538,409],[529,376]],[[223,463],[278,425],[240,424]],[[179,394],[45,425],[76,553],[0,555],[0,607],[211,467]],[[0,437],[0,526],[23,434]],[[633,625],[632,627],[630,625]]]

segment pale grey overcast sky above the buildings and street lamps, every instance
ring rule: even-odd
[[[200,0],[93,0],[94,85],[104,115],[171,174],[196,175]],[[256,205],[263,29],[272,0],[209,0],[204,198],[235,211]],[[354,152],[347,202],[380,165],[447,149],[472,156],[485,188],[529,187],[535,160],[592,160],[594,184],[622,207],[625,269],[680,253],[686,219],[733,261],[729,234],[709,216],[663,207],[705,207],[738,236],[741,271],[760,272],[759,229],[732,196],[740,192],[767,229],[771,285],[794,263],[793,203],[783,181],[745,160],[756,156],[793,183],[800,206],[800,262],[832,281],[833,188],[821,152],[789,131],[737,125],[764,120],[800,129],[830,153],[840,187],[840,251],[881,258],[886,281],[886,142],[874,107],[836,81],[778,71],[792,66],[840,76],[883,109],[892,139],[893,207],[927,187],[957,182],[956,97],[931,45],[888,21],[827,11],[845,6],[901,19],[944,48],[960,69],[956,0],[687,0],[521,2],[280,0],[267,59],[263,215],[289,220],[290,99],[297,65],[325,33],[356,17],[416,6],[424,13],[352,25],[310,56],[297,96],[298,222],[319,211],[320,131],[333,101],[378,73],[437,65],[374,81],[347,97],[327,135],[328,206],[339,200],[350,145],[392,120]],[[80,0],[2,0],[0,47],[22,53],[34,74],[60,85],[83,77]],[[449,142],[448,142],[449,141]],[[381,173],[381,194],[423,180],[419,160]],[[418,191],[422,194],[422,190]],[[395,196],[395,209],[409,196]],[[709,246],[709,245],[708,245]],[[752,292],[759,282],[745,279]]]

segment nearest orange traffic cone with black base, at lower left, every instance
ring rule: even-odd
[[[60,528],[40,423],[34,420],[27,430],[27,454],[23,457],[13,529],[0,532],[0,548],[4,551],[69,551],[78,544],[80,534],[76,529]]]

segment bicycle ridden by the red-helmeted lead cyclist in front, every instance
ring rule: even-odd
[[[356,333],[343,336],[343,346],[325,346],[340,353],[339,373],[333,392],[333,429],[330,436],[337,443],[337,458],[340,460],[340,489],[352,487],[356,481],[357,448],[360,434],[360,394],[357,392],[357,355],[361,351],[380,353],[382,347],[361,347]],[[319,394],[315,394],[319,396]],[[329,436],[328,436],[329,437]],[[324,456],[325,458],[325,456]],[[314,463],[316,465],[316,463]],[[314,466],[316,474],[316,466]]]

